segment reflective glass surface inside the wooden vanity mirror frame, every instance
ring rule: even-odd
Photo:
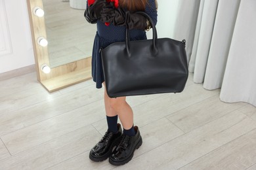
[[[79,9],[85,2],[43,0],[51,68],[91,56],[96,24],[86,22]]]

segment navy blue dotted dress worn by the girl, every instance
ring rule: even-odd
[[[158,14],[155,0],[148,0],[145,12],[152,18],[156,25]],[[105,48],[113,42],[125,41],[125,30],[125,26],[115,26],[113,24],[106,26],[103,22],[97,21],[97,31],[92,54],[92,76],[93,81],[96,82],[96,88],[102,88],[102,82],[104,82],[100,48]],[[142,39],[146,39],[146,32],[144,30],[131,29],[131,41]]]

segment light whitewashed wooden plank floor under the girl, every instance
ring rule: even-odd
[[[256,109],[192,83],[179,94],[128,97],[143,144],[114,167],[89,160],[106,131],[92,80],[48,93],[35,73],[0,81],[0,169],[256,169]]]

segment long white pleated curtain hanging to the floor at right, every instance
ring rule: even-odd
[[[181,0],[175,39],[186,39],[189,70],[220,98],[256,106],[256,1]]]

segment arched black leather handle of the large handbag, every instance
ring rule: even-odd
[[[143,16],[146,16],[146,18],[148,19],[148,21],[152,25],[152,29],[153,29],[153,39],[152,39],[152,41],[153,41],[153,51],[155,53],[158,53],[158,48],[156,48],[156,39],[158,39],[158,33],[156,31],[156,26],[154,25],[154,22],[153,22],[152,18],[150,18],[150,16],[146,12],[138,11],[138,12],[135,12],[135,13],[136,14],[141,14]],[[129,56],[131,56],[131,52],[130,52],[130,48],[129,48],[129,41],[130,41],[130,31],[129,31],[129,27],[127,27],[126,28],[125,43],[126,43],[127,54]]]

